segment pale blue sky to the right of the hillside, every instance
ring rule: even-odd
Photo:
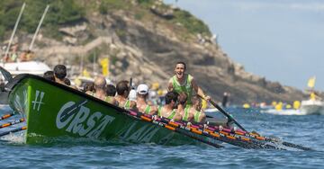
[[[175,5],[206,22],[229,58],[248,72],[299,89],[316,76],[315,88],[324,91],[324,1],[178,0]]]

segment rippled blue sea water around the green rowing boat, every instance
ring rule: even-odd
[[[0,114],[7,111],[7,107],[1,108]],[[116,144],[85,138],[31,146],[23,144],[21,132],[0,138],[0,168],[324,168],[324,116],[282,116],[238,108],[228,111],[247,130],[314,151],[244,149],[227,144],[223,148]]]

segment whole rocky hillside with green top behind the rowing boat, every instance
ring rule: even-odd
[[[99,72],[99,58],[111,60],[111,78],[134,78],[141,82],[166,82],[175,62],[183,60],[202,88],[221,100],[293,102],[302,100],[302,91],[269,82],[247,73],[234,63],[213,40],[206,24],[191,13],[155,0],[27,0],[18,30],[21,49],[26,49],[47,2],[49,13],[36,40],[37,56],[53,66],[71,65],[80,72],[81,58]],[[23,1],[0,2],[0,38],[8,40]]]

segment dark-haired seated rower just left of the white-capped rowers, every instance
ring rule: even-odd
[[[115,99],[117,102],[119,102],[119,106],[126,109],[136,109],[136,102],[130,101],[128,99],[129,93],[130,93],[130,86],[129,82],[126,80],[123,80],[119,82],[116,85],[116,91],[117,95],[115,96]]]

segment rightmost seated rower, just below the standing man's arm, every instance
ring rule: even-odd
[[[193,106],[190,108],[190,114],[193,116],[194,122],[204,122],[206,114],[202,111],[202,99],[195,95],[193,96]]]

